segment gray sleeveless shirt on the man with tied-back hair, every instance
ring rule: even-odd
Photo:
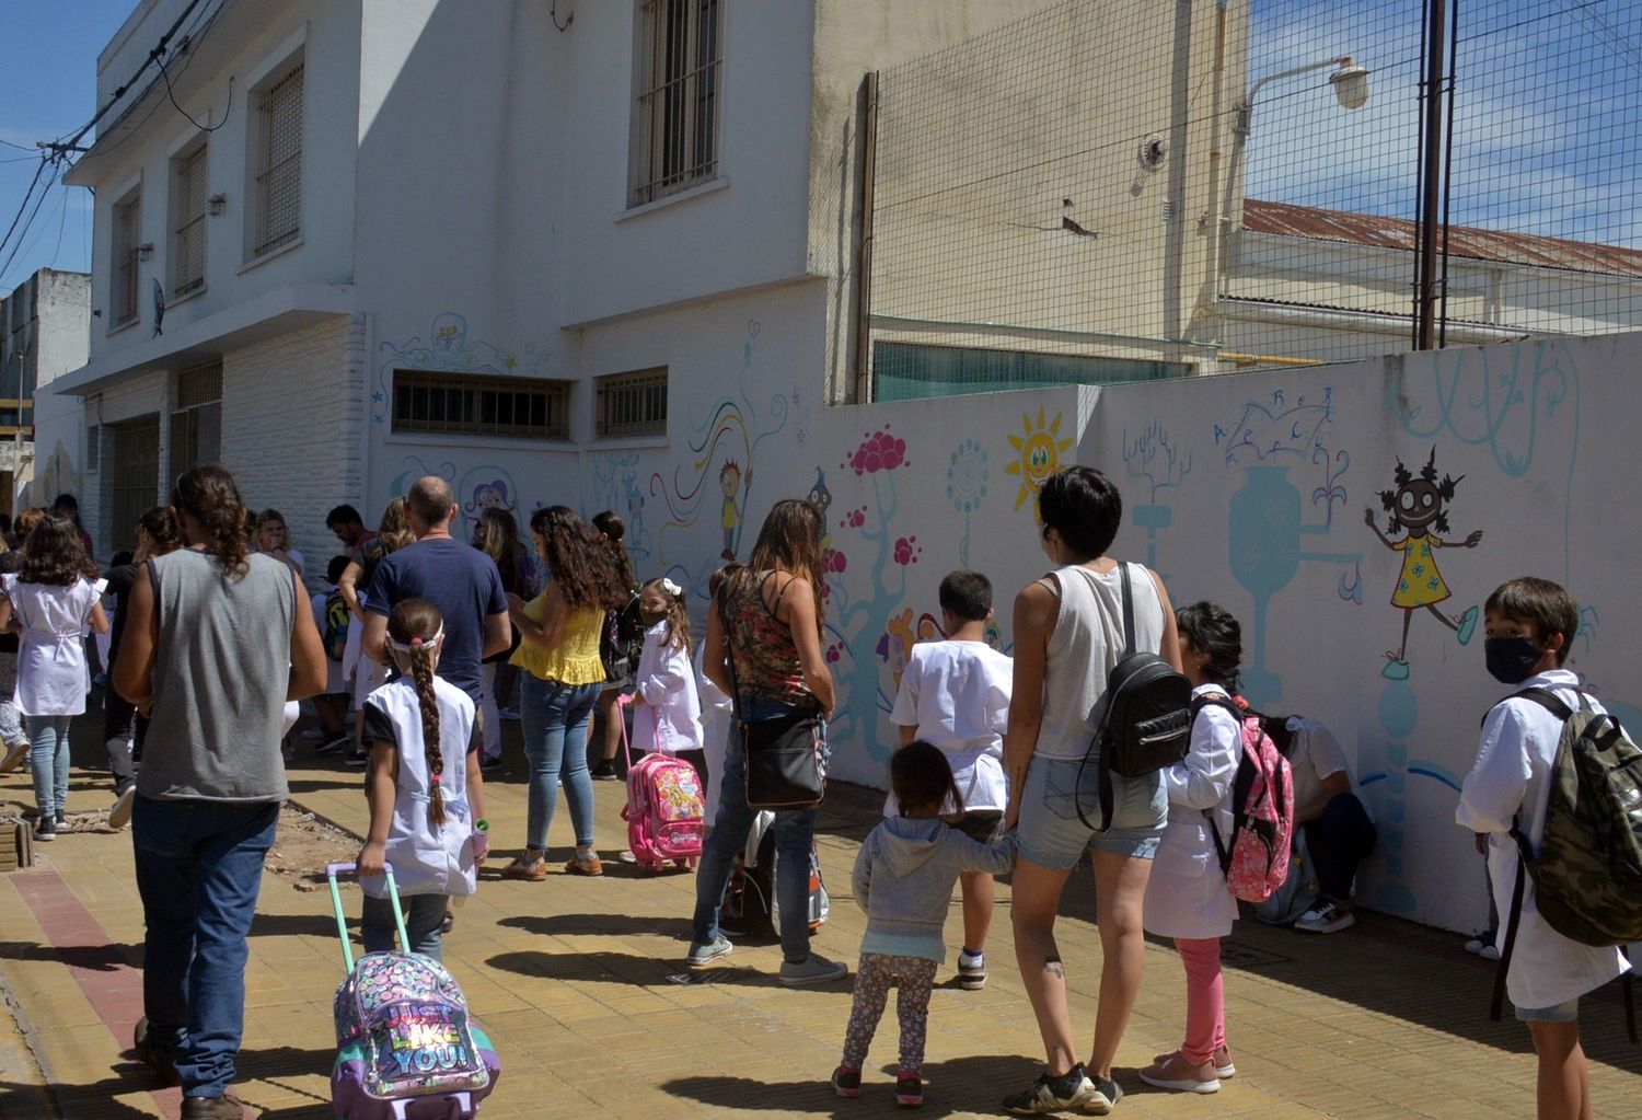
[[[159,642],[154,711],[136,792],[159,800],[284,801],[279,731],[297,594],[291,568],[250,557],[223,580],[215,557],[149,560]]]

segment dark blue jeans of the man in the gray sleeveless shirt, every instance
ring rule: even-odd
[[[131,806],[143,897],[143,1012],[184,1097],[220,1097],[245,1035],[246,936],[274,844],[274,801],[156,801]]]

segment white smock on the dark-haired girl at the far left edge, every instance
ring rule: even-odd
[[[85,670],[85,622],[99,601],[85,576],[57,586],[0,576],[23,634],[16,650],[16,708],[25,716],[79,716],[90,688]]]

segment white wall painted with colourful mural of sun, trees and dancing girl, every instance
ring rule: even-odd
[[[992,576],[1008,649],[1011,596],[1046,567],[1036,488],[1061,465],[1098,466],[1123,486],[1117,553],[1159,570],[1177,603],[1232,609],[1248,698],[1323,719],[1353,754],[1379,823],[1361,900],[1455,930],[1486,918],[1453,806],[1502,691],[1483,670],[1488,593],[1530,573],[1568,585],[1585,619],[1573,667],[1642,728],[1622,640],[1642,526],[1614,516],[1608,481],[1626,471],[1642,335],[826,407],[810,360],[824,325],[824,286],[806,284],[588,328],[586,373],[670,368],[665,442],[447,448],[376,424],[371,504],[435,473],[465,521],[486,504],[521,521],[552,503],[616,509],[640,576],[673,575],[701,616],[713,568],[745,558],[770,504],[810,496],[828,524],[834,773],[882,785],[887,714],[906,650],[938,634],[941,576]],[[378,365],[530,370],[562,345],[479,342],[461,312],[424,330],[379,342]],[[1406,491],[1435,496],[1412,535],[1392,521]]]

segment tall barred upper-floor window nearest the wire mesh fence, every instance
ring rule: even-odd
[[[722,0],[639,2],[632,205],[718,176]]]

